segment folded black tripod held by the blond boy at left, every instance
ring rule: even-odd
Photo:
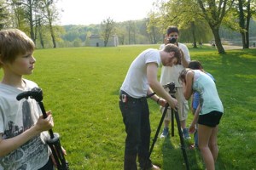
[[[38,105],[43,112],[44,119],[47,117],[46,111],[44,110],[43,100],[43,92],[41,88],[32,88],[31,91],[26,91],[21,94],[18,94],[16,99],[20,100],[23,98],[35,99],[38,102]],[[49,148],[55,158],[57,169],[58,170],[68,170],[68,162],[65,160],[65,156],[63,154],[60,142],[60,135],[58,133],[53,133],[52,129],[49,129],[49,139],[46,140],[46,143],[49,145]]]

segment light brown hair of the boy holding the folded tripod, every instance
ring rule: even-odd
[[[3,62],[12,63],[20,54],[32,52],[35,44],[30,37],[18,29],[0,31],[0,68]]]

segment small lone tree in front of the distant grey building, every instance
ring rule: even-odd
[[[110,36],[113,36],[115,31],[115,22],[108,17],[107,20],[103,20],[101,23],[102,26],[102,38],[104,41],[104,47],[108,45],[108,39]]]

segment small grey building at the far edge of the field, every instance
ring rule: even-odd
[[[90,47],[104,47],[104,40],[99,35],[91,35]],[[119,37],[116,35],[109,37],[107,47],[117,47],[119,45]]]

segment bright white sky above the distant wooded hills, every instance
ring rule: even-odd
[[[155,0],[59,0],[60,24],[101,24],[110,17],[115,22],[141,20],[153,9]]]

